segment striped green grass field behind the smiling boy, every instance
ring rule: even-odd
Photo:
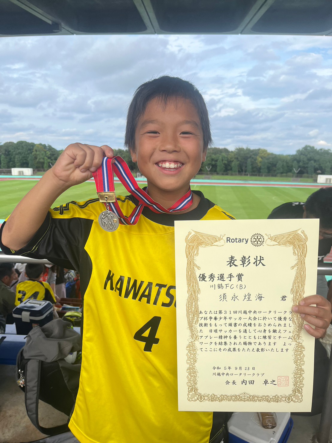
[[[19,200],[35,183],[32,180],[6,180],[0,182],[0,219],[8,217]],[[118,195],[128,194],[121,184],[116,183],[115,187]],[[266,218],[276,206],[292,201],[305,202],[308,196],[315,191],[313,188],[267,186],[194,185],[192,189],[201,190],[208,199],[239,219]],[[85,201],[96,196],[96,187],[93,182],[82,183],[64,192],[55,201],[53,206],[59,206],[70,200]]]

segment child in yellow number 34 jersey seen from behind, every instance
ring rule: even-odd
[[[15,306],[27,299],[46,300],[54,305],[56,299],[52,288],[46,281],[41,281],[44,265],[27,263],[24,272],[27,280],[21,281],[16,286]]]

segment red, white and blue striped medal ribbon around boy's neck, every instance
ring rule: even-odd
[[[112,163],[113,160],[113,163]],[[127,191],[133,195],[138,201],[139,205],[134,208],[129,217],[126,217],[120,209],[119,203],[115,198],[115,202],[104,203],[106,209],[112,210],[120,219],[122,225],[136,225],[139,221],[139,216],[142,214],[144,206],[147,206],[151,211],[158,214],[172,214],[173,212],[184,211],[188,209],[193,203],[193,194],[191,190],[183,195],[170,208],[166,209],[158,202],[155,202],[143,189],[141,189],[134,176],[122,157],[103,158],[103,163],[96,172],[93,172],[93,178],[96,183],[97,192],[114,192],[114,175],[120,180]]]

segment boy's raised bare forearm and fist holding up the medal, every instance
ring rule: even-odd
[[[2,232],[3,244],[14,251],[27,245],[59,195],[91,179],[104,155],[112,157],[112,148],[81,143],[67,146],[54,166],[23,197],[8,218]]]

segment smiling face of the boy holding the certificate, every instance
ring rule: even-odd
[[[166,105],[158,98],[151,100],[138,121],[131,157],[147,178],[154,200],[161,193],[181,198],[206,157],[200,119],[192,103],[182,98],[170,99]]]

